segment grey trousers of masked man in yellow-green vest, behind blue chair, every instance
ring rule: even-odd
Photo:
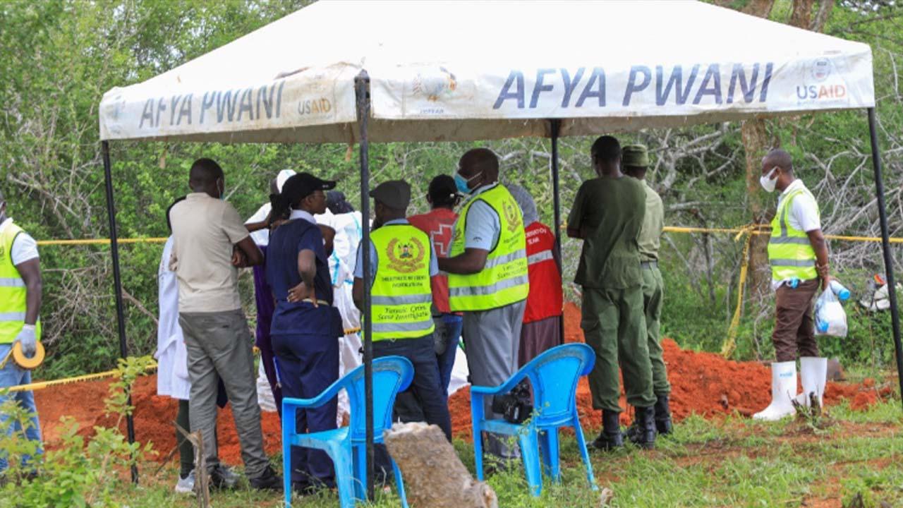
[[[477,386],[498,386],[517,372],[517,350],[520,349],[520,329],[524,321],[526,300],[480,312],[465,312],[464,351],[470,369],[470,383]],[[492,398],[483,403],[486,418],[502,418],[492,412]],[[474,436],[476,439],[477,437]],[[500,458],[517,458],[517,444],[507,437],[487,432],[484,449]]]

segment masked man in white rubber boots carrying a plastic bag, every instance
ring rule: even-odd
[[[827,359],[818,356],[812,300],[819,286],[826,289],[828,247],[815,196],[794,176],[793,161],[775,149],[762,159],[762,188],[780,191],[771,221],[768,263],[775,288],[775,329],[771,340],[777,362],[771,364],[771,404],[754,419],[777,420],[796,412],[792,400],[821,404]],[[796,394],[796,357],[800,358],[803,393]]]

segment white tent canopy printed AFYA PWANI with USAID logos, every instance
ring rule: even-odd
[[[126,88],[100,137],[464,141],[874,106],[867,44],[684,1],[321,1]],[[455,120],[455,121],[448,121]]]

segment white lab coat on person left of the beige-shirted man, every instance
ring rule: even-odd
[[[188,378],[188,351],[179,326],[179,282],[170,270],[172,237],[163,246],[163,257],[157,269],[160,291],[160,325],[157,327],[157,395],[188,400],[191,381]]]

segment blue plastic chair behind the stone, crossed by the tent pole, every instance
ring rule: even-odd
[[[414,379],[414,365],[401,356],[384,356],[373,361],[373,441],[383,442],[383,430],[392,427],[392,406],[396,394]],[[348,427],[298,434],[295,412],[302,408],[318,408],[348,390],[351,419]],[[292,506],[292,447],[309,447],[325,451],[336,469],[341,508],[352,508],[356,499],[366,500],[367,491],[367,424],[364,399],[364,366],[349,372],[314,399],[283,399],[283,481],[285,506]],[[405,484],[395,461],[398,496],[407,508]]]

